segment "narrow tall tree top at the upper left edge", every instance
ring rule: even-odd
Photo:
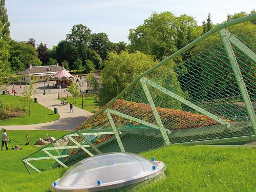
[[[5,0],[0,0],[0,21],[2,23],[1,38],[6,40],[10,38],[10,22],[8,21],[7,9],[5,8]]]

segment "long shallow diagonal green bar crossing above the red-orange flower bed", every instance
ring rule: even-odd
[[[144,77],[143,77],[144,78]],[[227,121],[223,121],[221,118],[217,117],[216,115],[214,114],[211,114],[210,112],[200,108],[200,106],[194,104],[194,103],[191,103],[190,101],[184,99],[183,97],[173,93],[172,91],[169,91],[163,87],[161,87],[159,84],[147,79],[147,78],[144,78],[144,81],[146,81],[147,84],[149,84],[150,86],[152,86],[153,88],[156,88],[157,90],[165,93],[166,95],[169,95],[170,97],[173,97],[174,99],[177,99],[178,101],[186,104],[187,106],[189,106],[190,108],[194,109],[194,110],[197,110],[198,112],[216,120],[217,122],[225,125],[228,129],[230,127],[230,124],[227,122]]]

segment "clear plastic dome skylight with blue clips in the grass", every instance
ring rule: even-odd
[[[136,154],[109,153],[84,159],[51,185],[51,191],[98,191],[132,185],[166,169],[160,161]]]

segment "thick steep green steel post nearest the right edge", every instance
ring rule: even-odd
[[[220,36],[221,36],[221,39],[223,41],[224,48],[225,48],[225,51],[227,53],[227,56],[228,56],[230,65],[232,67],[234,76],[237,79],[238,87],[239,87],[240,92],[242,94],[242,97],[243,97],[243,100],[244,100],[244,103],[245,103],[245,107],[246,107],[246,110],[247,110],[249,118],[250,118],[250,122],[251,122],[251,126],[252,126],[252,133],[253,133],[253,135],[256,135],[255,134],[255,129],[256,129],[255,113],[254,113],[254,110],[253,110],[253,107],[252,107],[252,104],[251,104],[250,96],[249,96],[248,91],[247,91],[246,86],[245,86],[243,75],[240,71],[236,56],[234,55],[232,46],[231,46],[230,41],[228,39],[227,30],[226,29],[221,29],[220,30]]]

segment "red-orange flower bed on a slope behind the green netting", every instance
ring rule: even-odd
[[[149,104],[118,99],[113,105],[110,106],[110,109],[156,124],[154,115],[152,113],[152,110]],[[203,126],[219,124],[219,122],[207,117],[206,115],[200,115],[200,114],[186,112],[182,110],[174,110],[174,109],[166,109],[166,108],[158,108],[158,107],[156,109],[158,111],[158,114],[162,120],[164,127],[170,130],[188,129],[193,127],[203,127]],[[112,115],[112,117],[117,127],[141,125],[140,123],[137,123],[135,121],[131,121],[128,119],[124,119],[117,115]],[[77,130],[84,123],[89,121],[89,119],[84,121],[75,130]],[[106,116],[106,113],[103,112],[102,114],[98,115],[94,120],[92,120],[90,123],[88,123],[86,126],[84,126],[83,129],[87,129],[87,130],[99,129],[99,128],[106,129],[106,127],[110,127],[110,126],[111,125],[109,123],[108,117]]]

